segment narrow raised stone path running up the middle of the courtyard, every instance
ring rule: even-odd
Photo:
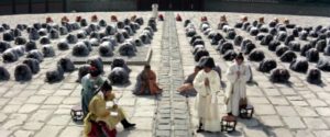
[[[189,129],[188,102],[185,96],[176,93],[176,88],[183,83],[184,73],[174,13],[167,12],[165,16],[158,71],[164,91],[157,102],[155,136],[189,137],[193,134]]]

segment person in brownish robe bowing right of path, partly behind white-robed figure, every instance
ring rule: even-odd
[[[187,92],[194,92],[194,93],[195,93],[196,90],[194,89],[193,82],[194,82],[194,79],[195,79],[196,75],[197,75],[201,69],[202,69],[202,67],[196,66],[194,72],[190,73],[190,75],[186,78],[184,84],[183,84],[182,87],[179,87],[179,88],[177,89],[177,91],[180,92],[180,93],[184,93],[184,92],[186,92],[186,93],[187,93]]]

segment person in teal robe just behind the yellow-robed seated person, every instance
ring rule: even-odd
[[[105,78],[101,76],[101,71],[95,66],[89,67],[89,73],[81,79],[81,109],[84,116],[89,112],[88,104],[92,99],[96,90],[105,82]]]

